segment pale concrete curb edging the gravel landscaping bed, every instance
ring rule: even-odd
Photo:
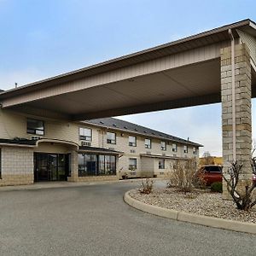
[[[248,224],[240,221],[226,220],[223,218],[207,217],[189,212],[178,212],[162,207],[151,206],[141,201],[133,199],[127,191],[124,195],[124,201],[131,207],[143,212],[148,212],[164,218],[172,218],[178,221],[201,224],[204,226],[218,228],[223,230],[232,230],[250,234],[256,234],[256,224]]]

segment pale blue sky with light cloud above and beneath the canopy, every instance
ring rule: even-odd
[[[0,89],[247,18],[256,20],[255,0],[0,0]],[[121,119],[189,137],[205,146],[201,154],[222,154],[220,104]]]

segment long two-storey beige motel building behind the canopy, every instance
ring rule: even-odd
[[[67,121],[1,110],[0,186],[161,177],[201,145],[119,119]]]

